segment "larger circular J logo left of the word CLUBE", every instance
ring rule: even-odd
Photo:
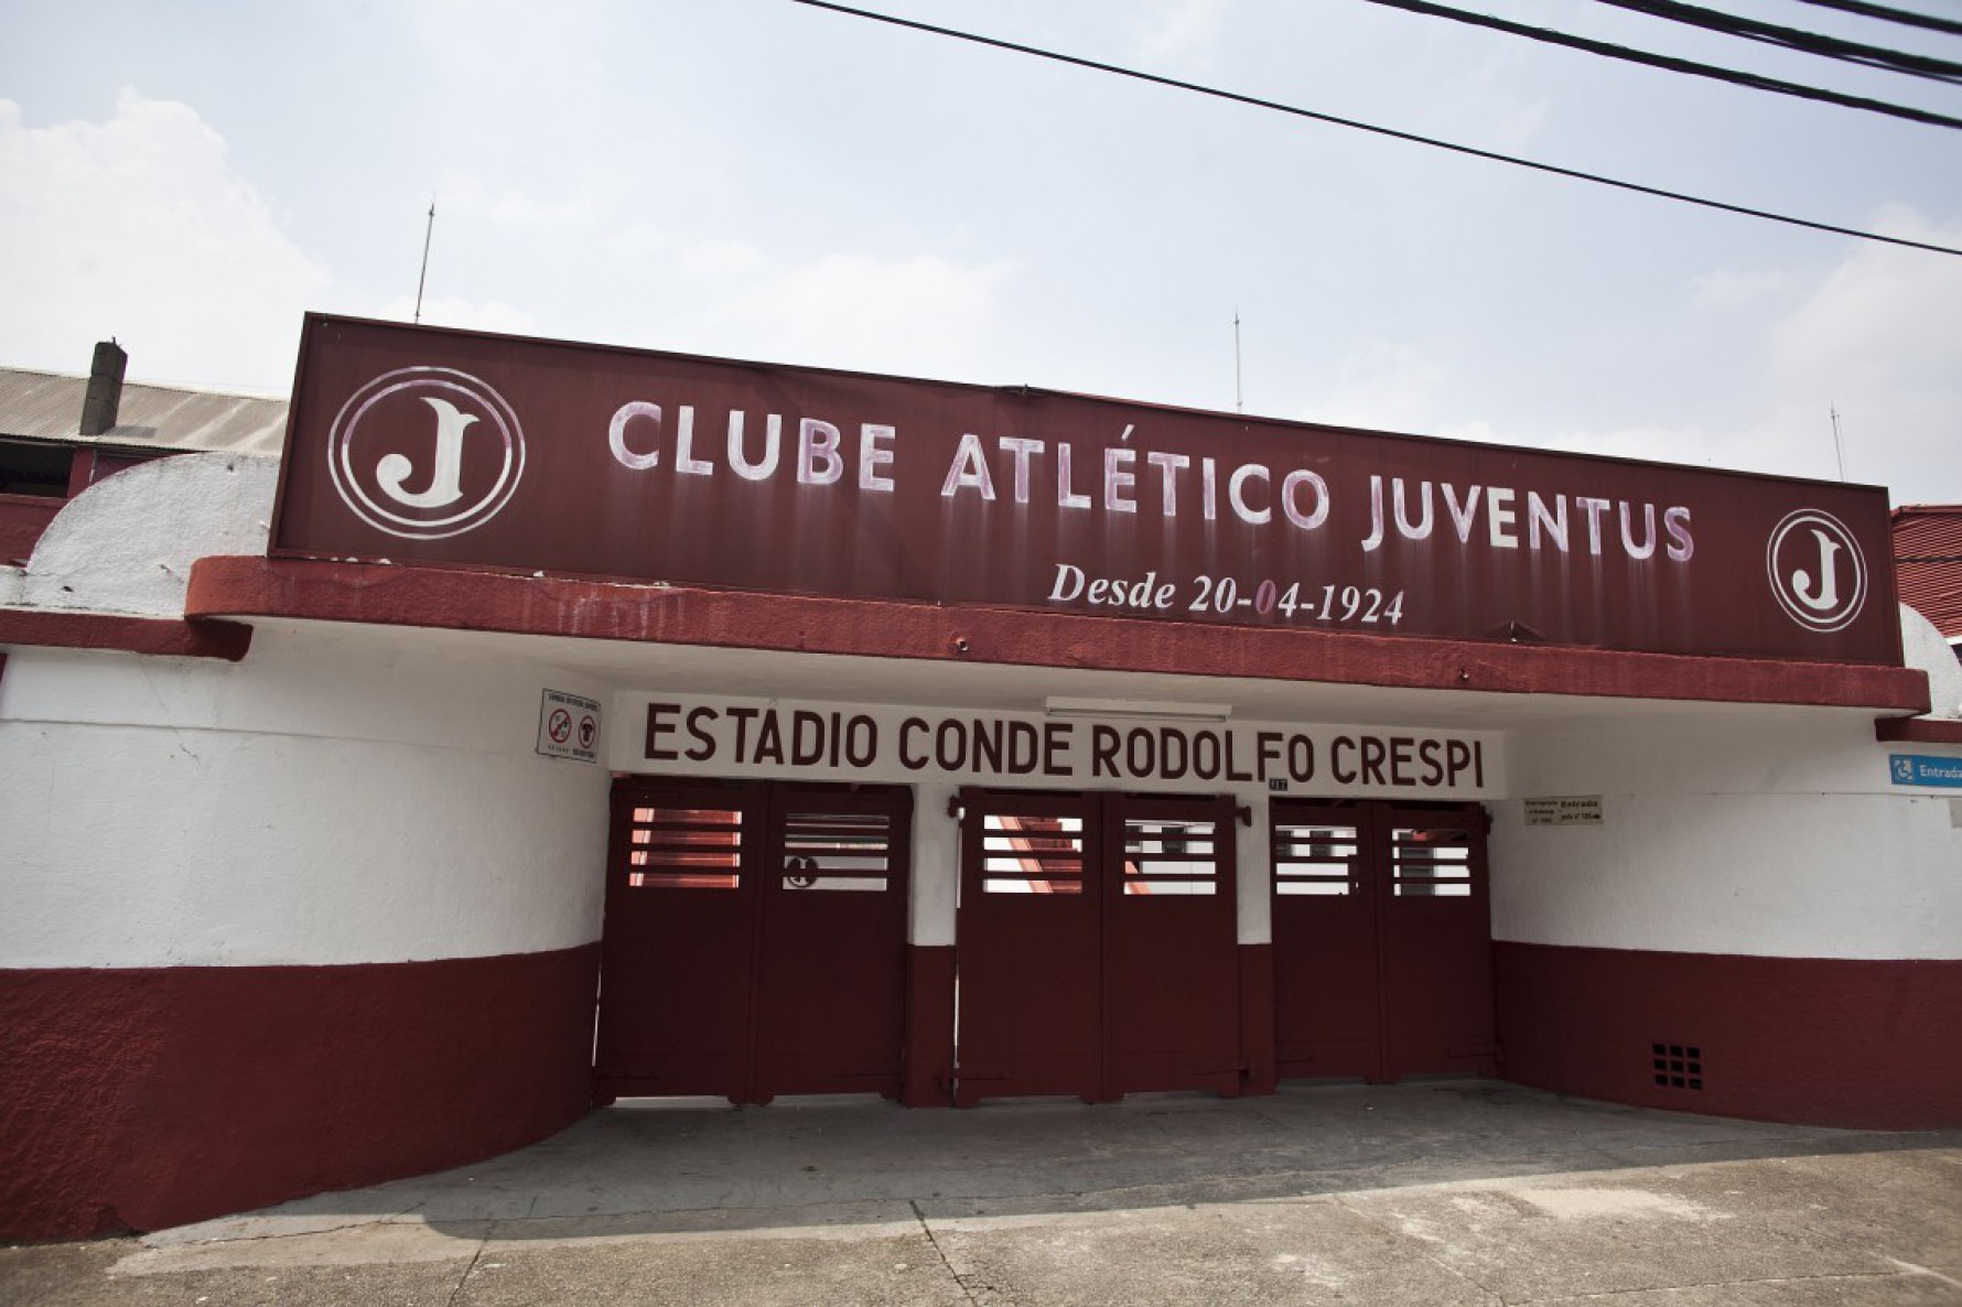
[[[504,396],[447,367],[383,373],[341,404],[328,473],[369,526],[441,540],[483,526],[524,475],[524,430]]]

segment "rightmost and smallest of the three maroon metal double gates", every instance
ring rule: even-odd
[[[1493,1072],[1485,814],[1275,801],[1283,1079]]]

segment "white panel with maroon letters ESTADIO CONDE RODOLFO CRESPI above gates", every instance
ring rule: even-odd
[[[1140,583],[1142,585],[1142,583]],[[1260,787],[1289,793],[1495,797],[1495,736],[1452,730],[630,695],[640,742],[618,771],[1071,787]]]

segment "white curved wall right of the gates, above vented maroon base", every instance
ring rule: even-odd
[[[1962,799],[1889,783],[1868,714],[1713,710],[1513,738],[1517,795],[1601,795],[1601,826],[1493,810],[1493,936],[1780,958],[1962,958]]]

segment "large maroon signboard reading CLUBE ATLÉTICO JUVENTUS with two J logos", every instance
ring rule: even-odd
[[[1870,487],[322,316],[273,553],[1899,661]]]

